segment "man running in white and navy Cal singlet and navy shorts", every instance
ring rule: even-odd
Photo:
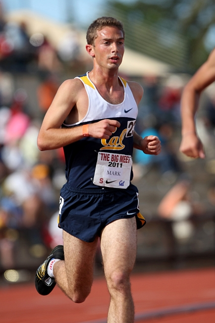
[[[130,273],[136,256],[136,230],[145,224],[132,179],[133,146],[158,154],[155,136],[134,131],[143,89],[118,76],[124,30],[111,17],[95,20],[86,50],[93,69],[65,81],[47,111],[38,135],[41,150],[64,147],[67,184],[61,190],[57,246],[39,266],[35,284],[41,295],[56,283],[74,302],[90,293],[98,239],[111,295],[108,322],[132,323]],[[64,260],[65,259],[65,260]]]

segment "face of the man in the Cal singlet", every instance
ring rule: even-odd
[[[94,40],[94,59],[101,67],[118,69],[124,54],[123,32],[117,27],[104,27]]]

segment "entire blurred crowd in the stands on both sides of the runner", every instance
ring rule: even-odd
[[[58,73],[63,74],[63,65],[74,62],[78,53],[73,30],[54,48],[44,35],[29,35],[25,23],[6,21],[0,10],[0,270],[17,266],[16,251],[23,241],[31,258],[43,257],[47,250],[62,244],[57,217],[59,192],[66,181],[63,149],[41,152],[36,140],[43,116],[59,87]],[[25,88],[17,88],[14,78],[15,73],[30,73],[32,66],[38,72],[34,76],[38,83],[37,118],[30,113],[29,93]],[[191,180],[180,180],[185,169],[178,158],[176,142],[180,140],[180,98],[185,81],[172,75],[164,79],[144,76],[138,82],[143,85],[144,97],[136,131],[142,137],[157,135],[162,141],[162,153],[153,156],[135,150],[134,180],[140,181],[154,170],[163,179],[173,179],[173,192],[170,190],[165,199],[157,201],[155,216],[183,221],[173,225],[173,232],[176,238],[181,238],[182,232],[182,238],[188,237],[193,232],[189,217],[196,209],[197,213],[203,209],[196,208],[196,204],[194,207],[187,198]],[[205,107],[198,128],[207,146],[208,140],[214,143],[212,95],[208,95]],[[210,149],[210,165],[215,174],[214,154]],[[215,204],[213,187],[209,196]]]

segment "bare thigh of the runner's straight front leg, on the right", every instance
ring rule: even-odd
[[[114,271],[132,271],[136,258],[136,219],[120,219],[110,223],[101,233],[101,252],[106,277]]]

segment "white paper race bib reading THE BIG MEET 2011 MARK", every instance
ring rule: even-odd
[[[98,152],[93,184],[127,188],[130,185],[132,157],[118,153]]]

